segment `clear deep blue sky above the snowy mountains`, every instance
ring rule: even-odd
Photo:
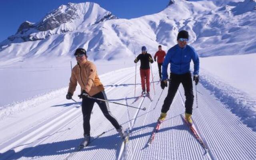
[[[68,2],[96,2],[119,18],[130,19],[160,12],[169,0],[0,0],[0,42],[15,34],[22,22],[38,22]]]

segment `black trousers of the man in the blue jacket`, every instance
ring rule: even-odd
[[[178,90],[178,87],[182,84],[185,91],[186,101],[185,101],[185,113],[192,114],[192,107],[194,102],[194,94],[193,94],[193,85],[191,73],[188,72],[186,74],[170,74],[169,88],[168,94],[164,100],[164,104],[162,106],[161,112],[166,113],[172,104],[172,100]]]

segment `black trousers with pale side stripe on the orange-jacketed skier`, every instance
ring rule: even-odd
[[[100,98],[103,100],[107,100],[107,96],[104,91],[101,91],[94,96],[94,98]],[[118,124],[117,120],[114,118],[114,116],[111,115],[108,102],[102,102],[99,100],[94,100],[90,98],[83,98],[82,100],[82,113],[84,118],[84,135],[90,134],[90,118],[92,113],[92,108],[94,103],[97,103],[100,107],[100,110],[104,114],[104,116],[111,122],[111,124],[116,128],[119,129],[121,126]],[[96,126],[98,127],[98,126]]]

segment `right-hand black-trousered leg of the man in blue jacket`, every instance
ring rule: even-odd
[[[193,94],[193,85],[192,85],[192,78],[191,73],[184,74],[181,81],[184,92],[185,92],[185,113],[192,114],[193,102],[194,102],[194,94]]]

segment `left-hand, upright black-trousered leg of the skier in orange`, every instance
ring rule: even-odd
[[[87,97],[82,99],[84,136],[90,134],[90,118],[94,102],[94,100]]]

